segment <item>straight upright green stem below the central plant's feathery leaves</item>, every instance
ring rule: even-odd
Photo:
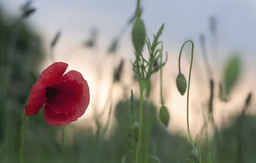
[[[135,161],[136,163],[139,163],[139,155],[141,154],[141,146],[142,146],[142,129],[143,129],[143,91],[144,87],[141,88],[140,85],[140,127],[139,127],[139,139],[138,139],[138,145],[136,150],[136,157]]]

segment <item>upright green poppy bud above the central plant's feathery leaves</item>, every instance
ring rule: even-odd
[[[132,37],[132,43],[134,45],[134,48],[137,53],[141,53],[143,46],[145,44],[145,39],[146,39],[146,29],[144,22],[140,19],[137,18],[132,32],[131,32],[131,37]]]

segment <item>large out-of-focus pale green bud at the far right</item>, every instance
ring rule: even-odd
[[[229,96],[241,74],[241,59],[238,55],[229,58],[224,69],[223,87],[226,96]]]

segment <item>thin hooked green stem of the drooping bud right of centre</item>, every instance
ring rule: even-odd
[[[192,40],[187,40],[183,43],[183,45],[181,46],[181,49],[180,49],[180,56],[179,56],[179,72],[180,72],[180,57],[181,57],[181,53],[182,53],[182,50],[184,48],[184,46],[186,45],[187,42],[191,42],[192,44],[192,49],[191,49],[191,62],[190,62],[190,68],[189,68],[189,83],[188,83],[188,93],[187,93],[187,128],[188,128],[188,133],[189,133],[189,139],[191,141],[191,144],[192,144],[192,147],[193,147],[193,150],[195,152],[195,155],[196,157],[198,158],[199,160],[199,163],[201,163],[201,155],[198,156],[196,150],[195,150],[195,145],[194,145],[194,142],[193,142],[193,139],[192,139],[192,136],[191,136],[191,133],[190,133],[190,129],[189,129],[189,88],[190,88],[190,79],[191,79],[191,72],[192,72],[192,63],[193,63],[193,52],[194,52],[194,42]],[[181,72],[180,72],[181,73]]]

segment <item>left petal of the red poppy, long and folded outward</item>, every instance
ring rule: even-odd
[[[36,115],[43,106],[46,87],[58,81],[67,69],[68,64],[55,62],[47,67],[33,85],[25,106],[25,115]]]

